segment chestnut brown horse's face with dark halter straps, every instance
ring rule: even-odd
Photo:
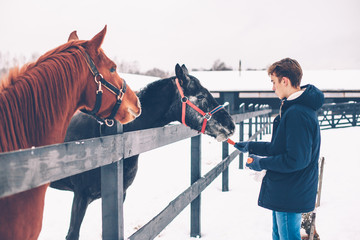
[[[87,53],[90,55],[91,59],[94,61],[98,72],[103,76],[103,78],[112,85],[114,85],[116,88],[123,89],[125,82],[124,79],[122,79],[118,75],[116,71],[116,64],[111,59],[109,59],[105,55],[104,51],[100,48],[104,40],[105,33],[106,26],[93,39],[87,41],[84,47]],[[76,40],[76,33],[76,38],[74,38],[73,34],[74,33],[70,35],[69,40]],[[85,101],[85,108],[87,110],[91,110],[95,105],[96,91],[98,90],[98,85],[96,84],[95,80],[92,80],[94,79],[94,76],[92,75],[91,71],[88,69],[86,71],[88,72],[87,78],[89,79],[89,81],[86,87],[85,96],[87,100]],[[111,114],[113,107],[115,106],[117,96],[112,91],[107,89],[104,85],[102,86],[102,91],[102,104],[99,112],[96,115],[101,118],[106,118]],[[131,90],[131,88],[126,85],[126,92],[125,94],[123,94],[122,102],[119,110],[115,115],[115,119],[118,120],[120,123],[125,124],[134,120],[140,115],[140,113],[140,101],[136,94]]]

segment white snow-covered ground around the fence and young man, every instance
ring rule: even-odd
[[[322,131],[321,156],[325,157],[321,206],[316,227],[321,239],[360,239],[359,127]],[[269,138],[269,136],[265,137]],[[234,137],[234,140],[236,138]],[[230,147],[233,151],[233,147]],[[172,156],[171,156],[172,155]],[[221,144],[202,136],[202,174],[221,160]],[[271,211],[257,206],[260,183],[250,170],[229,168],[230,191],[221,191],[221,176],[203,193],[201,239],[270,240]],[[139,171],[124,203],[125,237],[146,224],[190,184],[190,140],[183,140],[140,155]],[[39,240],[65,239],[72,193],[49,188]],[[156,239],[190,238],[190,207]],[[82,224],[80,239],[101,239],[101,200],[93,202]]]

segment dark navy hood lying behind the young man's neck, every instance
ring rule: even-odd
[[[301,87],[305,91],[294,100],[284,100],[282,109],[286,110],[293,104],[301,104],[317,111],[324,104],[324,93],[314,85],[308,84]]]

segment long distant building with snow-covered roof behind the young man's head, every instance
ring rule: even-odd
[[[272,91],[272,83],[264,71],[191,72],[220,102],[234,102],[232,111],[240,104],[268,104],[274,110],[280,100]],[[360,70],[304,70],[302,86],[313,84],[325,94],[326,103],[360,102]]]

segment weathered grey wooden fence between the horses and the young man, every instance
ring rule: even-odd
[[[263,133],[270,132],[271,109],[254,106],[252,110],[232,115],[235,122],[240,124],[240,140],[244,140],[245,120],[247,120],[250,140],[261,138]],[[123,161],[121,160],[189,137],[192,138],[192,185],[128,239],[155,238],[190,203],[191,236],[199,237],[201,236],[201,192],[221,173],[223,191],[228,190],[227,168],[240,152],[235,150],[229,155],[228,144],[223,143],[223,160],[202,177],[201,136],[198,132],[180,124],[0,153],[0,198],[101,167],[102,237],[122,240],[124,228]],[[242,154],[240,154],[239,167],[242,166]]]

